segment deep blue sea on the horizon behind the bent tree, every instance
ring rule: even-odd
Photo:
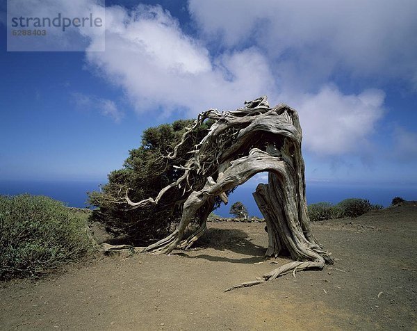
[[[68,207],[88,207],[87,192],[99,191],[99,184],[106,181],[12,181],[0,180],[1,195],[16,195],[30,193],[33,195],[47,195],[64,202]],[[229,203],[222,204],[214,212],[222,217],[228,217],[229,209],[234,202],[240,201],[247,207],[250,216],[262,217],[252,192],[255,186],[243,185],[229,196]],[[349,197],[361,197],[370,200],[373,204],[388,207],[393,197],[400,196],[404,200],[417,200],[417,187],[407,184],[334,184],[334,183],[306,183],[307,204],[316,202],[337,203]]]

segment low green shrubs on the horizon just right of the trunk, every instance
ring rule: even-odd
[[[369,200],[360,198],[345,199],[338,204],[318,202],[308,207],[311,221],[329,220],[333,218],[358,217],[371,210],[383,209],[380,204],[371,204]]]

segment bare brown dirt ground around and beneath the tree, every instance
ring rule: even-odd
[[[315,223],[334,266],[227,293],[277,265],[263,259],[264,224],[208,226],[198,250],[0,283],[0,329],[417,330],[417,202]]]

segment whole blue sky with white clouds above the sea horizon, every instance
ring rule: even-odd
[[[104,52],[8,52],[1,3],[0,180],[104,181],[143,129],[268,95],[307,183],[417,184],[416,1],[108,0]]]

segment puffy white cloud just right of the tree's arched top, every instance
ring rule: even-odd
[[[343,95],[335,86],[300,95],[295,106],[304,147],[322,156],[368,152],[368,138],[384,114],[384,97],[381,90]]]

